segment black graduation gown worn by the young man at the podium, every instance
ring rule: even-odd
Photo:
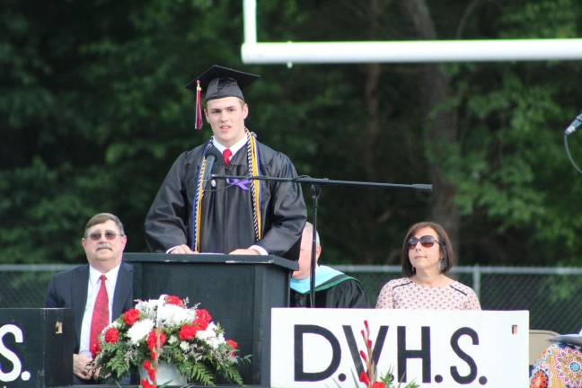
[[[295,177],[295,167],[287,155],[257,142],[260,174]],[[232,157],[225,168],[222,155],[216,154],[213,173],[248,175],[247,146]],[[145,242],[150,251],[192,243],[192,201],[205,145],[184,152],[173,163],[162,187],[145,217]],[[250,187],[250,184],[247,184]],[[200,252],[229,253],[238,248],[260,245],[269,254],[298,258],[298,246],[306,219],[301,185],[290,182],[260,181],[260,209],[263,235],[255,242],[252,226],[251,190],[229,186],[216,180],[216,187],[205,190],[202,201]]]

